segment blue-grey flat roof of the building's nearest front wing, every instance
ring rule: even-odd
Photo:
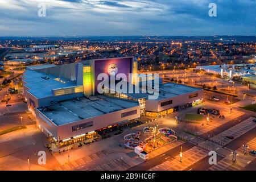
[[[88,98],[82,97],[80,101],[68,100],[58,102],[56,105],[46,107],[47,110],[44,110],[42,107],[39,107],[38,110],[57,126],[60,126],[138,105],[137,101],[97,95]]]

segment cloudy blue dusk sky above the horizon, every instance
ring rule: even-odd
[[[211,2],[216,17],[208,15]],[[255,0],[0,0],[0,36],[256,35],[255,7]]]

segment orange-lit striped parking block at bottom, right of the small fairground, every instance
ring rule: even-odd
[[[166,162],[152,167],[150,171],[182,171],[206,156],[208,156],[207,151],[195,146],[183,152],[182,162],[180,162],[180,155],[177,155],[175,158],[167,159]]]

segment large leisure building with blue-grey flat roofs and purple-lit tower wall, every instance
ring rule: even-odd
[[[101,73],[109,77],[123,73],[127,88],[140,92],[99,93]],[[127,125],[143,115],[159,117],[202,101],[202,89],[161,81],[158,90],[153,85],[158,97],[150,100],[152,93],[142,92],[143,84],[135,84],[130,73],[137,73],[133,57],[31,66],[23,75],[24,97],[40,130],[59,146]],[[113,88],[106,84],[102,89]]]

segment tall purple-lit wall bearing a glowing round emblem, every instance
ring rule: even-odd
[[[97,86],[101,80],[97,80],[100,73],[107,73],[109,76],[108,68],[110,65],[115,64],[117,66],[117,73],[124,73],[129,79],[129,73],[133,73],[133,57],[120,57],[113,59],[100,59],[94,60],[94,91],[97,93]]]

